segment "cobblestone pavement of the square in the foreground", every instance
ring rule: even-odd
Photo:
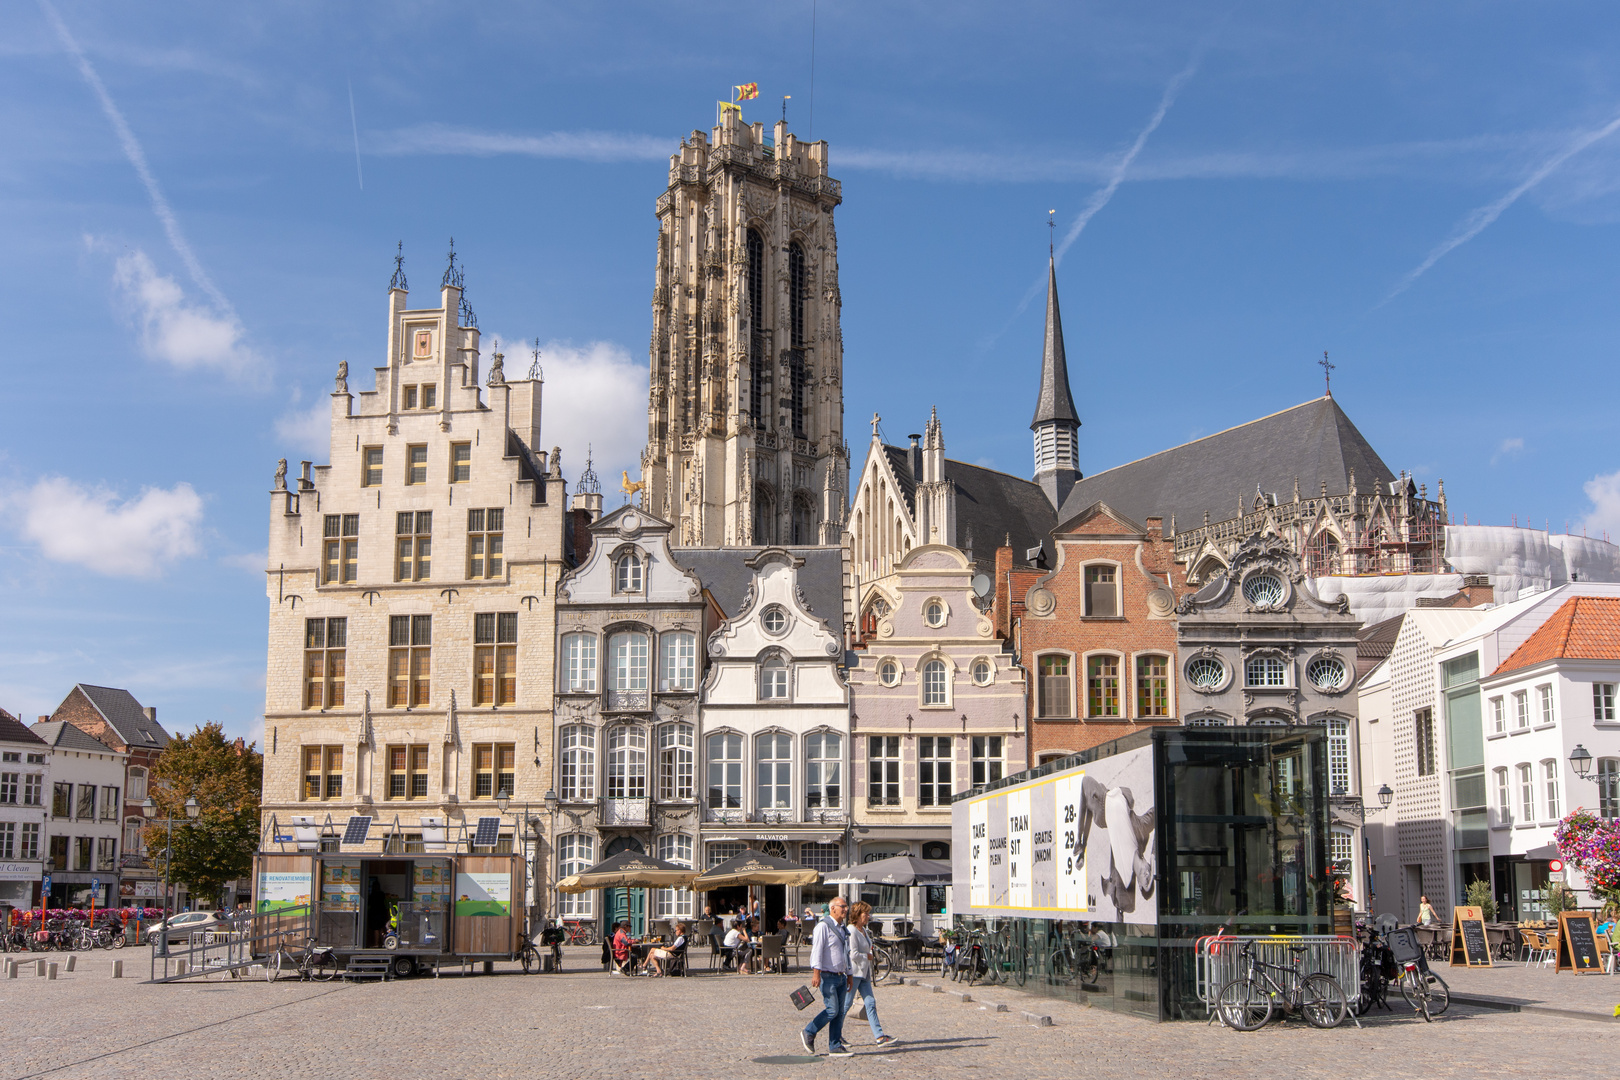
[[[802,976],[698,972],[688,980],[609,978],[595,950],[570,950],[557,975],[413,978],[384,984],[212,981],[146,984],[144,950],[79,954],[57,981],[0,980],[0,1077],[1612,1077],[1620,1023],[1452,1006],[1435,1023],[1395,1014],[1367,1027],[1301,1023],[1239,1035],[1204,1023],[1152,1023],[1103,1009],[982,991],[975,1001],[914,986],[878,989],[883,1025],[902,1041],[878,1051],[850,1023],[850,1059],[802,1057],[807,1018],[787,994]],[[65,957],[52,957],[58,963]],[[1051,1014],[1053,1027],[1019,1018]],[[825,1049],[825,1036],[821,1041]],[[787,1057],[786,1062],[758,1061]]]

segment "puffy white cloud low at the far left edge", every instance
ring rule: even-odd
[[[23,536],[39,544],[45,559],[107,576],[156,578],[168,563],[202,551],[202,497],[191,484],[143,487],[120,502],[105,487],[50,476],[10,502]]]

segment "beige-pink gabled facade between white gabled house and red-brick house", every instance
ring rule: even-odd
[[[1024,670],[974,604],[974,565],[914,547],[878,585],[888,614],[849,665],[857,861],[951,861],[951,797],[1024,767]],[[860,889],[875,918],[930,933],[944,889]]]

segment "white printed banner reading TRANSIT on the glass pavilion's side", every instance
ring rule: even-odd
[[[953,910],[1157,923],[1153,826],[1152,746],[962,800]]]

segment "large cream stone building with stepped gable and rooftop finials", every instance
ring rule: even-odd
[[[533,852],[569,549],[541,381],[509,382],[496,353],[480,387],[454,256],[434,308],[395,270],[376,387],[356,400],[347,374],[330,463],[287,484],[284,461],[271,492],[264,824],[332,845],[371,814],[368,848],[421,850],[502,816],[499,850]]]

